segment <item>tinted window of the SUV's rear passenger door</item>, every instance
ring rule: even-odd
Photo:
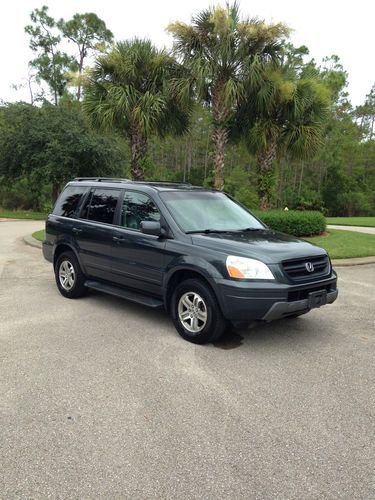
[[[113,217],[116,211],[117,200],[120,191],[115,189],[94,189],[87,206],[83,208],[81,217],[98,222],[113,223]]]

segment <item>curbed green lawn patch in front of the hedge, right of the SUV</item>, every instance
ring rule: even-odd
[[[329,229],[328,236],[304,238],[324,248],[331,259],[369,257],[375,255],[375,235]]]

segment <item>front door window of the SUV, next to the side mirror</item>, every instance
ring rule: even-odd
[[[159,210],[147,195],[127,191],[121,211],[121,224],[139,230],[143,220],[160,221]]]

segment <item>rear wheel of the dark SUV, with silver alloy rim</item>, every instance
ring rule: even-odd
[[[70,279],[64,280],[64,273]],[[68,299],[77,299],[87,293],[85,275],[73,252],[59,255],[55,265],[55,279],[59,292]]]

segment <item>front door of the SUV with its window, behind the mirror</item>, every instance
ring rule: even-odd
[[[112,280],[142,292],[161,295],[166,240],[141,233],[142,221],[160,221],[155,201],[140,191],[126,190],[115,228]]]

